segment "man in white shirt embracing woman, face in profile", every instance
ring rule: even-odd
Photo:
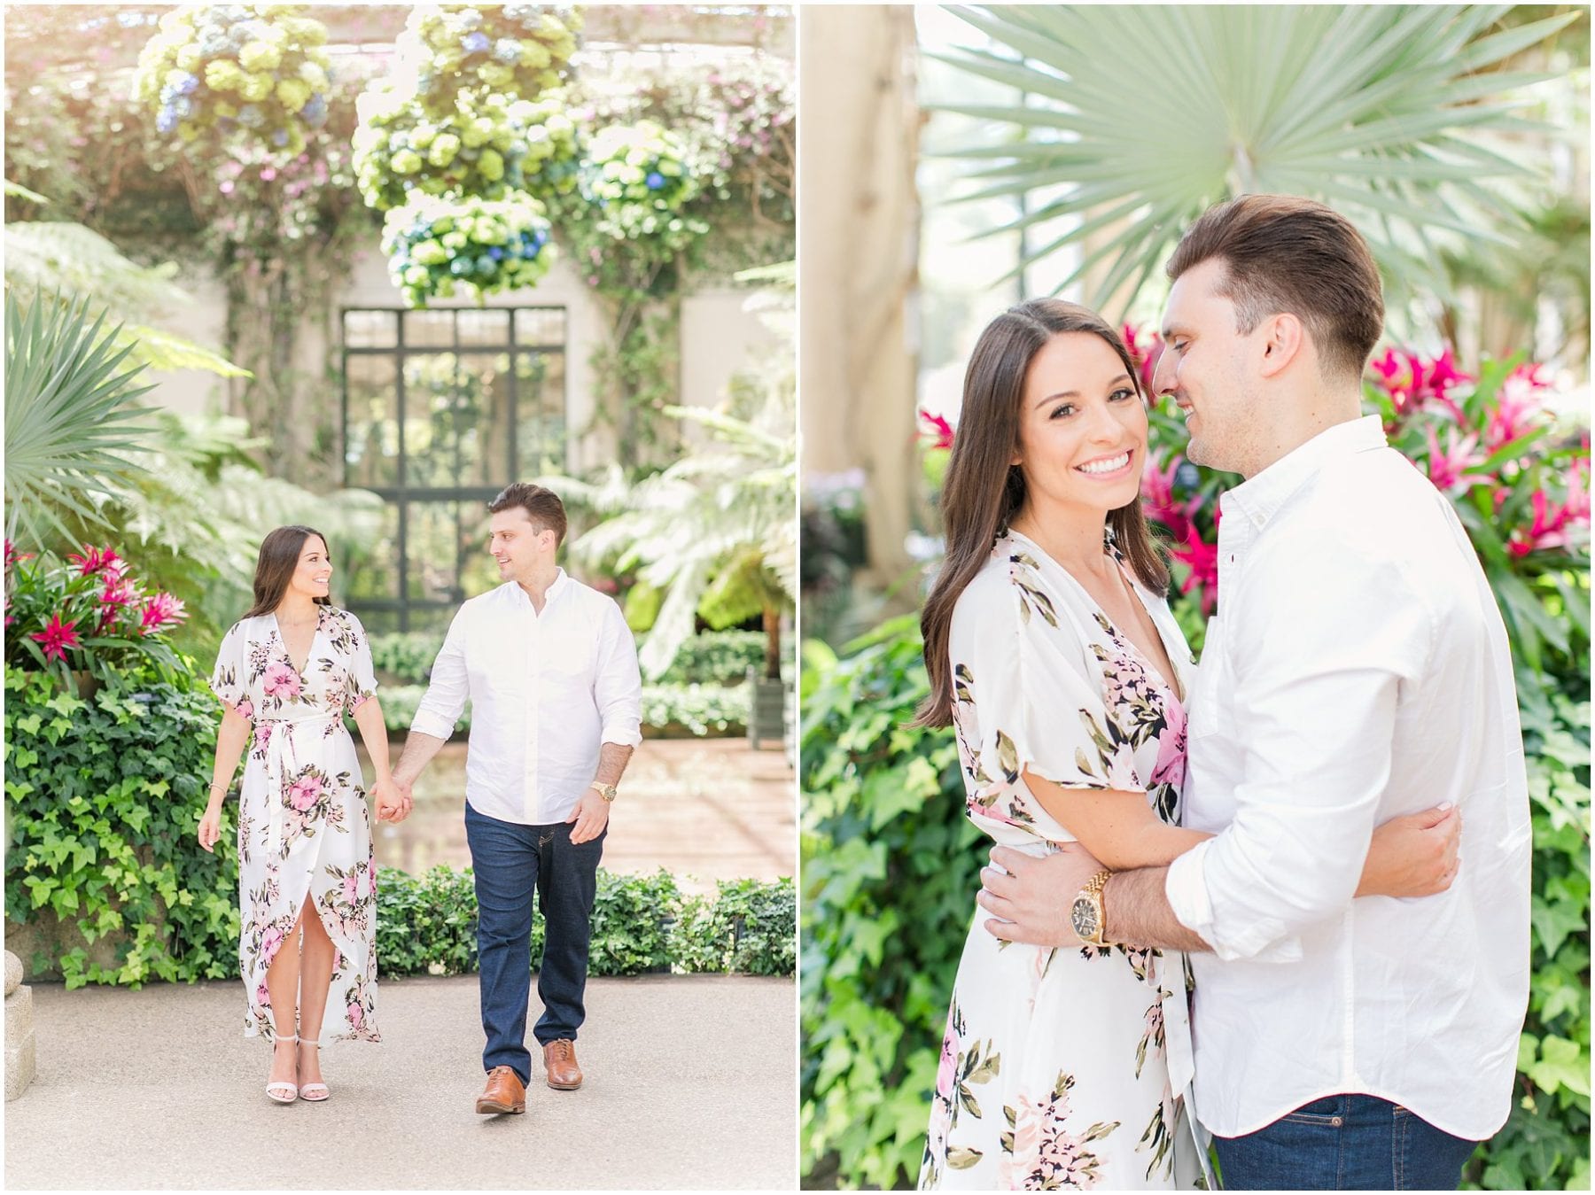
[[[1227,1187],[1456,1187],[1510,1110],[1528,1007],[1506,630],[1445,496],[1361,416],[1383,325],[1361,235],[1244,196],[1169,276],[1155,389],[1191,461],[1246,477],[1190,702],[1185,826],[1214,836],[1107,876],[1102,937],[1193,952],[1196,1115]],[[1463,814],[1451,887],[1353,900],[1373,828],[1437,803]],[[1101,871],[1083,847],[992,860],[994,933],[1078,945]]]

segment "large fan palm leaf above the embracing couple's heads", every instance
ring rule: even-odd
[[[1329,203],[1364,231],[1392,289],[1447,294],[1440,250],[1510,243],[1522,227],[1512,156],[1522,89],[1549,75],[1499,69],[1577,19],[1491,32],[1509,6],[955,8],[1006,53],[931,54],[1022,93],[1018,104],[938,104],[1005,129],[947,150],[970,164],[959,201],[1022,198],[983,235],[1065,220],[1010,278],[1065,249],[1057,284],[1093,279],[1102,306],[1158,271],[1207,206],[1278,191]],[[1136,81],[1128,49],[1163,64]]]

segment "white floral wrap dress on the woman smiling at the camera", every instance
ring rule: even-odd
[[[1185,691],[1179,625],[1124,574]],[[1032,796],[1027,769],[1069,788],[1144,791],[1179,822],[1179,694],[1034,542],[997,539],[959,598],[949,651],[967,812],[995,842],[1045,855],[1073,838]],[[1185,1107],[1183,954],[1005,943],[973,892],[970,903],[920,1187],[1203,1185]]]

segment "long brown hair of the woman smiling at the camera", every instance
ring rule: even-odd
[[[952,609],[986,565],[997,536],[1024,507],[1024,474],[1013,464],[1019,448],[1024,377],[1042,346],[1062,332],[1102,337],[1124,362],[1136,392],[1145,399],[1140,373],[1118,332],[1078,303],[1032,298],[1008,308],[981,332],[963,375],[963,410],[941,490],[947,555],[919,619],[925,635],[930,696],[920,704],[914,726],[946,726],[952,721],[952,664],[947,659]],[[1109,511],[1107,525],[1140,584],[1153,594],[1166,594],[1169,570],[1152,542],[1140,499]]]

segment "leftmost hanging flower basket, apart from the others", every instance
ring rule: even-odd
[[[134,94],[161,136],[289,160],[327,121],[327,27],[298,5],[190,5],[139,53]]]

